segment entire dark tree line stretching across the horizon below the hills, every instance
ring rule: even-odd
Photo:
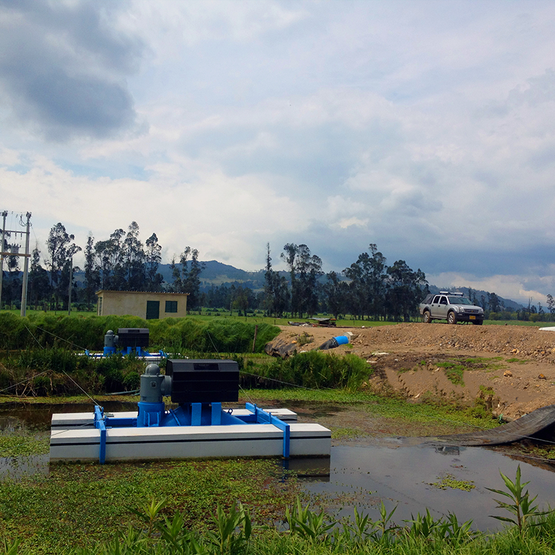
[[[11,248],[6,233],[4,252]],[[74,266],[74,256],[83,250],[83,269]],[[270,245],[266,245],[264,287],[234,282],[220,286],[200,281],[205,264],[198,259],[196,248],[186,246],[171,259],[171,282],[164,282],[159,271],[162,246],[153,232],[143,243],[139,225],[133,221],[127,230],[114,230],[107,239],[95,240],[92,234],[82,249],[62,223],[53,225],[46,240],[46,252],[35,246],[31,253],[28,275],[28,304],[41,309],[65,309],[71,298],[82,309],[96,305],[96,291],[172,291],[189,293],[191,309],[235,309],[242,314],[263,311],[274,317],[311,317],[330,314],[335,318],[350,314],[356,319],[409,321],[418,318],[418,304],[428,293],[428,283],[420,268],[413,271],[404,260],[391,266],[376,244],[361,253],[341,273],[324,273],[322,260],[305,244],[287,243],[280,253],[286,271],[273,269]],[[42,261],[42,264],[41,264]],[[44,266],[43,266],[44,264]],[[19,258],[5,258],[2,300],[9,304],[21,298]],[[70,271],[71,270],[71,271]],[[76,276],[81,274],[80,280]],[[71,276],[73,275],[73,278]],[[82,278],[82,279],[81,279]],[[484,308],[486,318],[524,321],[555,321],[555,300],[547,296],[546,307],[529,302],[518,311],[506,309],[495,293],[478,295],[468,290],[468,297]]]

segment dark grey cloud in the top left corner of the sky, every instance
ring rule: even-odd
[[[0,89],[22,122],[58,141],[133,126],[124,78],[144,46],[110,27],[115,6],[0,1]]]

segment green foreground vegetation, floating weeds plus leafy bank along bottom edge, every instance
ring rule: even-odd
[[[48,479],[0,489],[0,553],[123,554],[552,554],[553,513],[540,513],[520,467],[504,477],[507,523],[485,534],[454,514],[395,522],[354,511],[337,520],[299,496],[272,461],[198,461],[53,469]],[[45,508],[48,507],[47,510]],[[2,549],[3,543],[3,549]]]

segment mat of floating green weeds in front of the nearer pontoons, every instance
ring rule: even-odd
[[[108,542],[120,527],[140,529],[133,511],[153,497],[166,499],[164,514],[185,513],[193,529],[236,499],[264,524],[298,495],[296,481],[281,476],[275,461],[253,459],[52,466],[46,477],[3,482],[0,537],[19,538],[34,554]]]

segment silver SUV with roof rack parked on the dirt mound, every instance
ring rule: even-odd
[[[428,295],[420,302],[422,322],[432,320],[447,320],[448,324],[457,322],[472,322],[476,325],[484,323],[484,309],[472,305],[463,293],[440,291],[438,294]]]

